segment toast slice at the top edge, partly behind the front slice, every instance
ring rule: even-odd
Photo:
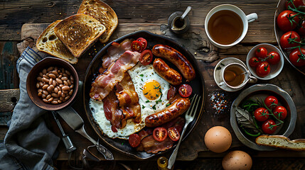
[[[100,42],[102,43],[106,43],[114,32],[115,28],[117,28],[117,14],[103,1],[83,0],[77,13],[85,13],[104,24],[106,31],[100,37]]]

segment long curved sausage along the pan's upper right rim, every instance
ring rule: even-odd
[[[186,81],[195,79],[196,73],[192,64],[180,52],[167,45],[155,45],[152,50],[157,57],[173,63],[181,72]]]

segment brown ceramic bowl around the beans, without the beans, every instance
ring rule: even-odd
[[[73,94],[68,99],[68,101],[58,104],[51,104],[51,103],[43,102],[43,99],[38,96],[38,89],[36,88],[36,84],[38,82],[37,77],[39,75],[39,72],[42,72],[43,69],[48,69],[48,67],[51,66],[64,68],[73,75],[74,89],[73,89]],[[31,98],[33,103],[36,104],[36,106],[43,108],[47,111],[57,111],[68,106],[75,98],[77,94],[77,90],[78,90],[78,75],[76,70],[71,64],[69,64],[65,60],[61,60],[55,57],[46,57],[37,64],[35,64],[34,67],[31,69],[31,71],[28,73],[28,78],[26,79],[26,91],[28,91],[28,96]]]

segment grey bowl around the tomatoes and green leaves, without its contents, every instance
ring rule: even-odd
[[[264,98],[269,95],[275,96],[281,106],[287,108],[287,118],[284,120],[284,123],[278,128],[275,132],[277,135],[284,135],[289,137],[291,133],[294,131],[294,127],[296,124],[296,106],[294,105],[294,101],[292,98],[287,94],[286,91],[275,86],[274,84],[255,84],[254,86],[250,86],[248,89],[242,91],[240,96],[238,96],[235,101],[232,103],[232,106],[239,106],[240,103],[246,98]],[[252,149],[260,150],[260,151],[271,151],[275,150],[273,147],[264,147],[259,146],[255,143],[256,137],[249,137],[245,135],[237,125],[237,120],[235,116],[236,109],[231,106],[230,110],[230,123],[237,136],[238,140],[242,142],[247,147]]]

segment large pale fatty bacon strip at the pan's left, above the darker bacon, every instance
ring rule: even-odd
[[[100,74],[91,84],[90,97],[92,99],[102,101],[117,82],[122,81],[124,73],[132,69],[139,61],[139,52],[127,50],[119,57],[116,62],[113,62],[107,72]]]

